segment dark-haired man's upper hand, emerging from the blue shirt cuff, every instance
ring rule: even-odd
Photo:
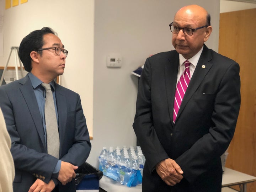
[[[76,169],[78,169],[78,166],[74,166],[65,161],[61,162],[58,180],[62,185],[66,185],[66,183],[72,181],[72,178],[75,178],[76,174],[74,170]]]

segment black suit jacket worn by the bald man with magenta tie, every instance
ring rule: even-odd
[[[204,67],[204,66],[205,67]],[[220,156],[233,138],[240,108],[239,65],[205,45],[173,123],[179,55],[176,50],[146,59],[133,123],[146,162],[143,191],[220,191]],[[183,179],[167,186],[155,171],[174,159]]]

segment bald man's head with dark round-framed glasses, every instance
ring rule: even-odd
[[[182,7],[174,16],[170,27],[172,45],[186,59],[196,55],[210,37],[210,15],[201,6],[188,5]]]

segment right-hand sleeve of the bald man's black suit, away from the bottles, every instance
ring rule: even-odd
[[[235,62],[226,70],[216,93],[212,127],[185,153],[176,159],[184,177],[193,182],[199,175],[220,161],[235,132],[240,108],[239,65]]]

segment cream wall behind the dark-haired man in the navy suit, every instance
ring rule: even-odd
[[[4,12],[4,66],[12,46],[42,27],[51,27],[69,51],[60,84],[78,92],[92,135],[94,0],[33,0]],[[14,66],[14,54],[8,66]]]

